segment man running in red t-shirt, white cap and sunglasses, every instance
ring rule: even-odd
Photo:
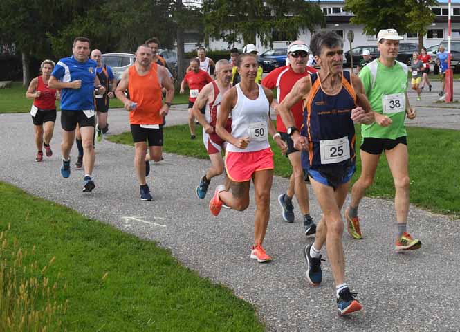
[[[262,85],[268,89],[277,88],[278,100],[273,100],[272,107],[276,110],[279,102],[282,102],[286,95],[291,92],[294,84],[302,77],[306,77],[311,73],[316,73],[315,68],[306,66],[306,62],[309,59],[310,49],[301,40],[296,40],[288,46],[288,59],[289,65],[276,68],[271,71],[262,80]],[[302,127],[303,113],[302,100],[299,100],[297,104],[291,109],[294,119],[295,127]],[[304,233],[306,235],[315,234],[316,225],[313,223],[313,219],[310,216],[310,205],[309,205],[309,190],[306,188],[304,181],[304,170],[302,169],[302,163],[300,162],[300,151],[295,149],[293,140],[286,133],[286,127],[282,121],[281,116],[277,113],[276,127],[282,140],[288,145],[288,151],[286,156],[289,159],[293,167],[293,174],[289,178],[288,190],[284,194],[278,196],[278,203],[282,207],[282,216],[284,221],[293,223],[295,215],[293,212],[292,199],[295,194],[297,202],[299,203],[300,212],[304,216]]]

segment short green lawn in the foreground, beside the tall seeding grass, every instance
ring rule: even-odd
[[[10,223],[23,251],[35,245],[39,266],[55,256],[47,276],[67,284],[56,300],[68,300],[68,331],[264,331],[250,304],[155,243],[6,183],[0,192],[0,231]]]

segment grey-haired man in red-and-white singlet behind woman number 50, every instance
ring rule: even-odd
[[[216,120],[222,97],[231,88],[231,78],[232,64],[227,60],[219,60],[216,63],[216,80],[204,86],[193,104],[193,113],[203,127],[203,143],[211,160],[211,167],[208,168],[198,187],[196,187],[196,196],[199,199],[205,198],[211,179],[223,173],[224,165],[221,151],[225,150],[225,142],[216,133]],[[206,108],[204,116],[200,111],[203,107]],[[230,118],[227,120],[226,130],[229,133],[232,131]],[[229,187],[230,181],[226,177],[226,190]]]

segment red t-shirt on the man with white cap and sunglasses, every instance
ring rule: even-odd
[[[311,68],[309,66],[306,67],[306,71],[304,73],[297,74],[292,69],[291,66],[284,66],[280,68],[276,68],[274,71],[271,71],[264,80],[262,80],[262,85],[268,89],[277,88],[277,97],[278,102],[282,102],[286,95],[291,92],[295,83],[300,80],[302,77],[306,77],[311,73],[316,73],[317,70],[315,68]],[[303,113],[304,113],[304,106],[303,100],[299,100],[291,111],[293,112],[294,120],[295,120],[295,127],[299,130],[302,128],[302,122],[304,120]],[[286,126],[281,119],[281,116],[276,116],[276,130],[281,133],[286,133]]]

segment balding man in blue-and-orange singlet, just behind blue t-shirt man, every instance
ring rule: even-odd
[[[109,115],[109,98],[115,97],[117,80],[113,75],[112,68],[102,64],[102,53],[100,50],[93,50],[91,52],[91,59],[98,64],[98,67],[96,67],[96,75],[98,75],[100,84],[105,88],[104,93],[95,93],[94,95],[94,106],[98,118],[98,124],[96,125],[96,140],[100,142],[102,141],[104,133],[109,131],[109,124],[107,123],[107,116]]]

